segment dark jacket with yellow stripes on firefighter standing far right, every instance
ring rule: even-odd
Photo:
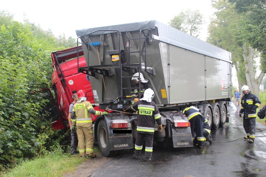
[[[253,93],[249,92],[248,94],[244,94],[244,96],[241,99],[241,110],[239,113],[244,112],[244,118],[250,119],[250,118],[256,118],[257,117],[257,108],[260,106],[259,98],[254,95]],[[251,109],[254,110],[254,112],[251,112]]]

